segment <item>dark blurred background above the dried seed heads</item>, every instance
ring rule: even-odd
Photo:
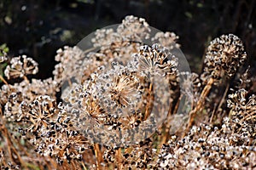
[[[241,37],[247,63],[255,67],[255,7],[254,0],[0,0],[0,45],[9,47],[9,56],[33,57],[38,77],[47,78],[58,48],[133,14],[160,31],[175,32],[192,71],[201,72],[207,45],[226,33]]]

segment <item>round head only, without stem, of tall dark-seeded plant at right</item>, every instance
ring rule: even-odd
[[[239,37],[233,34],[217,37],[210,42],[207,49],[203,75],[216,80],[224,75],[233,77],[245,59],[247,54]]]

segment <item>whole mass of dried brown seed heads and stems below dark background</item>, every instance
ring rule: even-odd
[[[0,75],[0,169],[255,169],[256,78],[236,74],[241,40],[214,39],[198,75],[178,70],[174,33],[150,31],[127,16],[90,49],[57,50],[45,80],[27,77],[32,58],[0,56],[11,79]]]

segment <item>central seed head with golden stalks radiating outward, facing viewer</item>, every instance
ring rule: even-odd
[[[95,90],[98,99],[108,102],[110,107],[133,107],[141,99],[138,86],[139,79],[124,66],[116,64],[112,70],[98,77]]]

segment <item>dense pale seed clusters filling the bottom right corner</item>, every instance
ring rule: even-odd
[[[233,118],[233,117],[232,117]],[[221,127],[201,124],[177,140],[164,144],[160,169],[253,169],[256,167],[255,124],[225,117]],[[239,130],[242,129],[242,130]],[[253,140],[254,139],[254,140]]]

